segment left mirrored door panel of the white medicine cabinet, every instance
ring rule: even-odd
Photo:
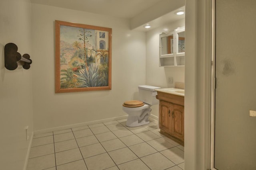
[[[173,34],[161,37],[160,41],[162,55],[173,54]]]

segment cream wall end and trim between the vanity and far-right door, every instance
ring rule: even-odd
[[[186,0],[185,169],[210,169],[211,1]]]

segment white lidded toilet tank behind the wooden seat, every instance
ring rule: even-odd
[[[159,89],[160,87],[141,85],[138,86],[138,88],[140,101],[149,105],[159,103],[158,100],[156,99],[157,92],[155,91],[155,89]]]

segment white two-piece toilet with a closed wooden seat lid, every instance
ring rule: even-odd
[[[159,88],[160,87],[148,85],[138,86],[140,100],[129,100],[124,102],[123,110],[128,114],[126,126],[137,127],[149,123],[150,107],[158,104],[158,100],[156,99],[157,92],[155,89]]]

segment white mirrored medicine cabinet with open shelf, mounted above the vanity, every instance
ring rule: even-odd
[[[159,36],[159,66],[185,65],[185,27]]]

